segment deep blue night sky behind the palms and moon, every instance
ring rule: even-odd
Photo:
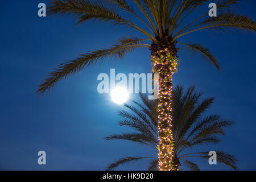
[[[150,51],[138,49],[123,60],[105,60],[61,81],[48,94],[37,96],[36,87],[51,69],[80,53],[108,47],[119,37],[140,36],[126,27],[76,20],[61,16],[39,18],[38,3],[48,1],[0,2],[0,169],[104,170],[123,156],[151,156],[156,152],[137,144],[107,142],[109,134],[127,129],[118,127],[117,110],[109,94],[97,93],[97,75],[109,73],[150,73]],[[255,18],[255,1],[242,1],[238,13]],[[205,7],[208,11],[208,7]],[[235,125],[227,130],[218,146],[201,150],[225,150],[240,160],[238,168],[256,169],[256,61],[255,34],[233,31],[228,34],[195,32],[181,39],[203,43],[218,57],[221,72],[200,57],[179,51],[181,64],[174,84],[195,85],[204,97],[216,100],[208,113],[221,114]],[[128,103],[137,96],[131,96]],[[39,166],[38,151],[47,153],[47,165]],[[210,166],[195,159],[201,169],[230,169]],[[118,169],[146,169],[147,160]],[[184,168],[186,169],[186,168]]]

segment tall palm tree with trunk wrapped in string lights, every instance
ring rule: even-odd
[[[43,94],[50,90],[62,78],[80,72],[90,65],[104,59],[122,59],[135,48],[148,48],[151,51],[152,71],[159,73],[158,94],[158,134],[160,170],[176,170],[174,166],[174,147],[172,118],[170,115],[172,75],[177,72],[177,51],[180,44],[192,52],[200,53],[217,69],[220,69],[216,57],[200,43],[181,43],[177,40],[184,35],[200,30],[255,31],[256,25],[249,17],[232,13],[230,7],[238,0],[219,0],[217,17],[209,17],[205,7],[212,0],[58,0],[48,7],[50,14],[73,15],[76,24],[88,20],[99,20],[133,28],[141,32],[142,38],[125,36],[119,38],[112,47],[98,49],[82,54],[74,60],[66,61],[49,73],[37,90]],[[204,7],[204,9],[201,9]],[[200,11],[202,10],[202,11]],[[203,12],[203,13],[202,13]],[[190,20],[191,15],[197,18]],[[129,19],[127,17],[130,17]],[[140,22],[140,23],[137,23]],[[165,165],[165,163],[168,165]],[[164,164],[164,165],[163,165]]]

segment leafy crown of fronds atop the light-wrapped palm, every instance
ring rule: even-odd
[[[129,3],[128,3],[129,2]],[[200,43],[181,43],[177,39],[181,36],[199,30],[218,30],[237,28],[255,31],[255,22],[249,17],[230,11],[238,0],[219,0],[217,2],[217,17],[209,17],[205,7],[209,0],[57,0],[48,7],[49,14],[72,15],[78,19],[76,24],[88,20],[99,20],[131,27],[141,32],[143,38],[125,36],[119,38],[112,47],[98,49],[82,54],[75,60],[60,64],[59,68],[49,73],[48,77],[39,85],[37,93],[42,94],[51,89],[62,78],[72,76],[83,68],[116,57],[122,59],[135,48],[151,49],[152,55],[159,49],[174,49],[177,43],[182,44],[193,52],[199,52],[209,59],[217,69],[218,61],[208,48]],[[199,11],[204,7],[203,11]],[[139,11],[139,13],[137,12]],[[202,13],[203,12],[203,13]],[[191,14],[198,14],[196,19],[188,22]],[[125,17],[131,17],[127,19]],[[135,23],[135,22],[141,23]],[[146,27],[146,28],[144,28]]]

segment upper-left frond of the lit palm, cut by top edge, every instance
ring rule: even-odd
[[[121,1],[120,1],[121,2]],[[56,0],[52,2],[52,5],[48,7],[49,14],[67,14],[76,16],[79,21],[76,24],[84,23],[87,20],[100,20],[104,22],[112,22],[115,25],[122,24],[128,26],[141,32],[142,34],[148,36],[148,38],[155,41],[154,36],[152,36],[143,28],[135,25],[130,20],[123,18],[117,13],[109,1],[101,3],[98,1],[90,0]],[[122,4],[125,8],[125,5]],[[126,7],[126,9],[129,7]]]

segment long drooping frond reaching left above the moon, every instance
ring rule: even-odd
[[[127,53],[130,53],[135,48],[148,47],[148,44],[141,44],[143,39],[138,38],[121,38],[118,39],[118,43],[110,48],[98,49],[96,51],[82,54],[75,60],[66,61],[61,63],[59,68],[49,73],[48,77],[43,80],[43,83],[39,85],[38,94],[43,94],[47,90],[50,90],[62,78],[73,76],[75,73],[82,71],[83,68],[96,64],[98,61],[104,59],[123,59]]]

